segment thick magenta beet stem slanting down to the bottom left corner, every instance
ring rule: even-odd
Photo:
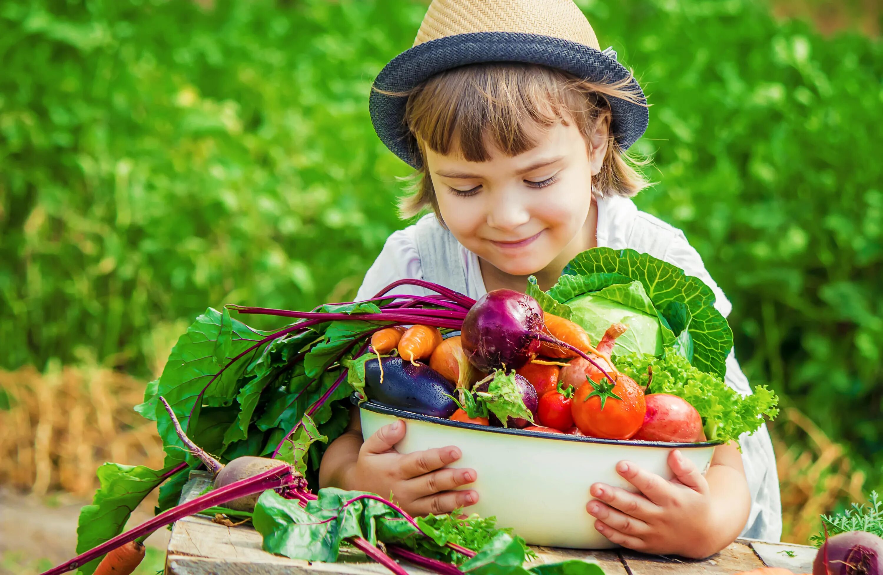
[[[138,539],[145,533],[152,533],[162,526],[167,526],[180,518],[187,517],[188,515],[205,511],[209,507],[223,505],[224,503],[237,499],[238,497],[250,496],[253,493],[260,493],[267,489],[283,488],[293,485],[294,483],[296,483],[296,478],[291,474],[291,467],[289,465],[279,465],[278,467],[270,469],[264,473],[254,475],[253,477],[234,481],[223,488],[209,491],[204,496],[196,497],[187,503],[181,503],[177,507],[172,507],[169,511],[160,513],[155,518],[145,521],[140,526],[130,529],[125,533],[120,533],[113,539],[104,541],[101,545],[89,549],[86,553],[82,553],[64,564],[60,564],[49,571],[43,572],[42,575],[59,575],[60,573],[72,571],[83,564],[87,564],[93,559],[104,555],[108,551],[117,549],[129,541]]]

